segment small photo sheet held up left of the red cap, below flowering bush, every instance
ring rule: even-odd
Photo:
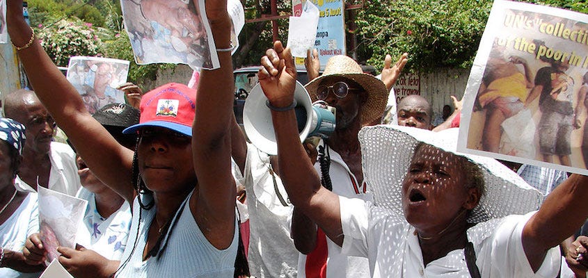
[[[129,61],[97,57],[72,57],[67,67],[67,80],[84,99],[90,113],[106,104],[124,103],[125,94],[116,90],[127,82]]]

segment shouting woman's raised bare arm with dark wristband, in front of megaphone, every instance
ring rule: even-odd
[[[276,41],[261,60],[259,79],[273,107],[271,118],[278,142],[280,178],[292,204],[316,222],[331,240],[342,244],[339,198],[321,187],[320,179],[300,142],[293,109],[296,67],[290,49]],[[277,108],[277,109],[276,109]],[[280,111],[278,111],[280,110]]]

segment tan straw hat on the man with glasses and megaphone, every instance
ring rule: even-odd
[[[344,55],[333,56],[328,59],[323,74],[315,79],[312,79],[305,85],[312,102],[317,101],[317,88],[321,81],[328,76],[343,76],[358,83],[367,92],[367,101],[361,108],[361,123],[367,124],[375,120],[377,117],[382,117],[386,102],[388,102],[388,90],[386,85],[376,79],[372,74],[365,74],[361,70],[360,65]]]

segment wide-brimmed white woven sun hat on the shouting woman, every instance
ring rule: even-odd
[[[464,156],[480,167],[486,193],[468,222],[479,223],[539,209],[543,195],[493,158],[456,152],[458,129],[433,132],[408,126],[367,126],[359,133],[365,181],[374,193],[374,204],[404,215],[402,181],[419,142]]]

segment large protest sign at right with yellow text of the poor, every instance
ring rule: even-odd
[[[588,174],[586,22],[494,2],[464,95],[460,152]]]

